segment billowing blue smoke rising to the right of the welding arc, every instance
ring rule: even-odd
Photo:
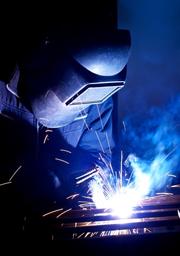
[[[164,108],[132,113],[124,124],[122,137],[131,148],[124,164],[134,170],[136,182],[147,174],[149,190],[164,191],[176,184],[180,174],[180,95]]]

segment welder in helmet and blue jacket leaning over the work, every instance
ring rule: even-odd
[[[110,171],[111,96],[125,84],[130,32],[91,11],[83,22],[69,10],[52,23],[31,22],[1,73],[5,207],[64,206],[76,192],[75,177],[95,166]]]

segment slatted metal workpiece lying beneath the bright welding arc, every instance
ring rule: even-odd
[[[49,212],[44,217],[44,213],[40,211],[26,217],[23,236],[29,239],[29,234],[32,234],[32,240],[70,240],[77,239],[81,234],[88,236],[97,233],[97,237],[100,237],[101,233],[114,234],[116,231],[122,231],[119,234],[125,231],[131,233],[132,230],[138,230],[140,233],[145,232],[143,230],[160,233],[180,231],[180,203],[158,203],[157,201],[151,205],[134,207],[133,214],[128,219],[113,216],[112,209],[61,210]],[[59,216],[60,214],[62,215]]]

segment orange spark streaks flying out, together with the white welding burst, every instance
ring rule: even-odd
[[[77,94],[77,96],[79,97],[78,94]],[[80,99],[80,97],[79,97],[79,99]],[[86,113],[85,109],[83,109],[83,110]],[[98,105],[97,105],[97,110],[98,110],[98,114],[100,116],[100,122],[101,122],[102,129],[104,129],[103,123],[101,120],[100,111],[98,109]],[[80,112],[80,115],[82,115],[85,125],[89,130],[88,124],[86,124],[85,117],[83,116],[80,109],[79,109],[79,112]],[[124,130],[126,131],[124,121],[122,123],[124,125]],[[51,130],[47,130],[47,132],[49,132],[49,131],[51,131]],[[92,131],[92,127],[91,127],[91,131]],[[97,135],[97,139],[98,139],[98,141],[101,145],[102,151],[104,153],[103,144],[101,144],[101,141],[100,141],[97,131],[95,131],[95,133]],[[104,132],[104,135],[106,135],[107,143],[109,145],[109,151],[110,151],[110,154],[112,154],[107,133]],[[46,139],[48,139],[48,135],[46,135],[44,142],[46,141]],[[179,145],[176,148],[178,148],[178,147],[179,147]],[[176,148],[174,148],[174,150],[176,150]],[[161,160],[160,163],[162,163],[174,150],[172,150],[169,154],[167,154],[167,156],[164,157],[164,159]],[[71,153],[70,151],[63,150],[63,149],[61,149],[60,151],[66,151],[67,153]],[[152,179],[152,175],[151,175],[151,177],[149,177],[148,174],[146,174],[142,171],[143,169],[140,168],[140,166],[136,166],[139,177],[137,178],[137,180],[135,178],[135,180],[131,181],[131,177],[133,177],[133,174],[135,172],[134,169],[136,169],[136,167],[134,168],[134,166],[133,166],[133,168],[131,169],[130,178],[127,179],[125,177],[126,172],[123,171],[122,151],[121,151],[120,171],[115,172],[115,174],[113,172],[111,163],[108,163],[108,165],[107,165],[106,161],[103,159],[101,154],[100,154],[100,157],[101,157],[101,160],[103,160],[103,162],[106,164],[107,169],[110,172],[105,174],[100,166],[96,166],[95,169],[92,169],[88,173],[83,174],[79,177],[76,177],[76,179],[77,179],[76,184],[82,183],[83,181],[86,181],[89,178],[92,178],[91,181],[88,183],[89,189],[88,189],[87,196],[86,197],[81,196],[82,198],[84,198],[85,201],[83,201],[83,200],[79,201],[79,207],[83,210],[93,209],[94,207],[97,209],[104,209],[105,215],[106,214],[109,215],[109,212],[110,212],[111,215],[117,215],[117,216],[119,216],[119,218],[122,219],[122,221],[125,221],[125,219],[131,218],[131,216],[133,215],[134,208],[136,208],[137,206],[142,207],[142,202],[147,203],[148,201],[151,201],[151,197],[148,197],[148,192],[149,192],[149,190],[151,190],[149,187],[149,184]],[[137,157],[135,157],[135,158],[136,158],[136,160],[135,160],[135,162],[136,162]],[[56,160],[68,163],[62,159],[56,158]],[[110,166],[110,169],[108,166]],[[162,178],[165,175],[173,176],[173,175],[169,174],[170,172],[171,171],[167,172],[164,175],[161,175],[160,178]],[[158,180],[160,178],[158,178]],[[175,186],[171,186],[171,187],[180,187],[180,185],[175,185]],[[67,197],[67,199],[73,200],[74,198],[76,198],[79,195],[80,194],[74,194],[74,195],[71,195],[70,197]],[[157,197],[163,197],[165,195],[172,196],[173,194],[166,193],[166,192],[159,192],[159,193],[156,193],[156,195],[157,195]],[[53,212],[46,213],[43,216],[50,215],[51,213],[55,213],[55,212],[58,212],[61,210],[63,210],[63,209],[58,209]],[[56,218],[59,218],[61,215],[64,215],[65,213],[69,212],[70,210],[71,209],[64,210],[64,212],[62,212],[61,214],[56,216]],[[86,225],[89,225],[89,224],[91,224],[91,222],[88,222]],[[75,227],[77,227],[77,222],[74,225],[75,225]],[[147,231],[149,231],[149,230],[147,230]],[[130,230],[102,231],[100,236],[111,236],[111,235],[113,236],[113,235],[119,235],[119,234],[129,234],[131,232],[138,233],[138,230],[134,229],[133,231],[130,231]],[[74,236],[76,236],[77,238],[79,238],[81,236],[87,237],[87,236],[94,236],[95,234],[97,234],[97,232],[96,233],[91,233],[91,232],[82,233],[78,237],[77,237],[77,234],[76,235],[73,234],[73,237]]]

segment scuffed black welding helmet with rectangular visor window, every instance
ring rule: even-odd
[[[35,117],[46,127],[62,127],[89,105],[103,103],[124,87],[130,49],[125,29],[44,42],[43,60],[23,73]]]

